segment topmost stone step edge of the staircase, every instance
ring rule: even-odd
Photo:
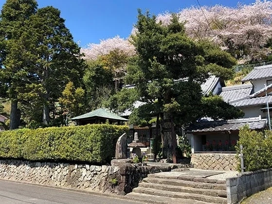
[[[178,179],[183,181],[195,181],[201,183],[210,183],[210,184],[226,184],[226,180],[217,180],[217,179],[208,179],[202,177],[194,177],[194,176],[171,176],[171,175],[160,175],[160,174],[148,174],[149,178],[164,178],[164,179]]]

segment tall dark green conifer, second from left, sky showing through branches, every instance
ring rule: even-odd
[[[79,86],[86,65],[80,48],[66,28],[60,11],[52,6],[38,9],[27,22],[28,31],[23,34],[27,62],[27,78],[22,98],[35,95],[42,104],[42,123],[50,125],[55,102],[65,85],[73,82]]]

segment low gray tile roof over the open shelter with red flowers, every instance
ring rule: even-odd
[[[216,121],[199,121],[192,124],[187,133],[202,132],[221,132],[221,131],[237,131],[239,128],[248,124],[251,130],[262,130],[266,127],[266,119],[260,120],[259,117],[247,119],[230,119]]]

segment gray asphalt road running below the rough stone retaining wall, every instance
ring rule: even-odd
[[[117,197],[117,196],[115,196]],[[0,180],[0,204],[137,204],[109,196]],[[139,204],[139,203],[138,203]]]

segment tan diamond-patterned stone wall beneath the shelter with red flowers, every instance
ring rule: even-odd
[[[194,153],[191,164],[203,170],[236,170],[236,154],[227,153]]]

